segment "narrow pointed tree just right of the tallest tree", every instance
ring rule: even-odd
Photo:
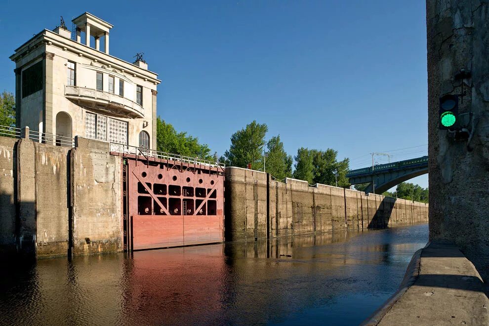
[[[267,143],[267,149],[265,170],[279,180],[292,177],[292,157],[285,153],[280,136],[272,137]]]

